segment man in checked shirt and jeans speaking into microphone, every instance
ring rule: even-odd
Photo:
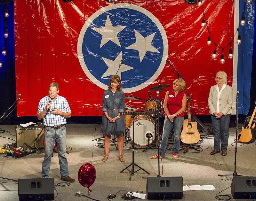
[[[37,109],[37,118],[44,118],[44,161],[42,163],[42,178],[49,177],[52,161],[53,146],[56,142],[60,163],[61,180],[75,182],[68,174],[66,153],[66,118],[71,117],[71,110],[66,98],[58,95],[59,84],[52,82],[49,85],[48,96],[42,98]]]

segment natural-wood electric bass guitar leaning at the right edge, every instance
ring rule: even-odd
[[[256,104],[256,102],[255,102]],[[256,112],[256,106],[254,108],[254,111],[252,112],[252,117],[248,123],[248,125],[246,126],[246,128],[242,127],[242,131],[241,133],[239,133],[237,135],[237,140],[238,142],[241,142],[241,143],[248,143],[251,141],[252,139],[252,133],[253,133],[253,129],[255,128],[255,123],[252,125],[252,121],[253,121],[253,118],[255,116],[255,112]],[[252,125],[252,126],[251,126]]]

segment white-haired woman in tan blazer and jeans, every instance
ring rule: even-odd
[[[210,154],[220,153],[221,142],[221,154],[226,156],[233,89],[227,85],[227,73],[224,71],[216,74],[215,81],[217,84],[211,87],[208,98],[214,138],[214,150]]]

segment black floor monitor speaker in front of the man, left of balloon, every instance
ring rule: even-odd
[[[19,179],[19,200],[54,200],[54,179]]]

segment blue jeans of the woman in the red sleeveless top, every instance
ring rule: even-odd
[[[167,116],[164,118],[164,128],[163,128],[163,136],[160,144],[160,156],[164,157],[166,148],[168,145],[168,138],[172,127],[174,125],[174,142],[172,147],[172,154],[179,153],[180,149],[180,131],[182,127],[182,123],[184,121],[184,117],[175,117],[173,122],[170,122]]]

